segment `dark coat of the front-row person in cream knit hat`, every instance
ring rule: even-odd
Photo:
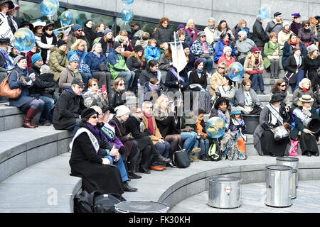
[[[124,126],[124,123],[121,123],[117,116],[113,116],[113,118],[109,121],[110,126],[114,126],[115,133],[117,138],[121,141],[121,143],[124,145],[125,152],[124,155],[128,157],[130,155],[130,151],[132,150],[132,147],[134,145],[134,142],[131,140],[128,140],[127,136],[129,132],[126,131],[126,127]]]

